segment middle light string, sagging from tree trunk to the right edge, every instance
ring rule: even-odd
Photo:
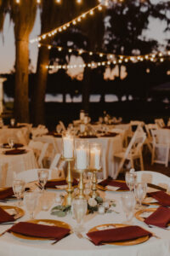
[[[168,50],[166,53],[163,52],[156,52],[156,53],[150,53],[147,55],[115,55],[113,53],[105,53],[105,52],[93,52],[93,51],[88,51],[86,49],[72,49],[72,48],[65,48],[62,46],[56,46],[52,44],[38,44],[38,47],[45,46],[48,49],[57,49],[58,51],[68,51],[69,53],[72,52],[77,52],[78,55],[82,54],[88,54],[88,55],[98,55],[100,58],[102,57],[107,57],[109,60],[113,60],[115,58],[120,58],[122,61],[132,61],[132,62],[139,62],[139,61],[156,61],[156,59],[160,59],[160,61],[164,61],[164,58],[170,57],[170,50]]]

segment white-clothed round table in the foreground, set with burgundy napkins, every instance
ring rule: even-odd
[[[52,190],[51,190],[52,191]],[[54,191],[54,190],[53,190]],[[51,192],[53,193],[53,192]],[[59,192],[54,192],[59,193]],[[128,193],[128,192],[127,192]],[[88,214],[84,218],[85,233],[91,228],[99,224],[121,224],[125,221],[125,216],[122,212],[122,207],[120,205],[120,197],[122,192],[102,192],[106,198],[110,198],[116,201],[115,211],[105,213],[104,215],[99,215],[98,213]],[[12,205],[12,202],[10,203]],[[54,204],[56,205],[56,204]],[[54,207],[54,206],[53,206]],[[24,210],[25,207],[22,207]],[[50,215],[48,212],[38,212],[37,219],[55,219],[59,221],[64,221],[70,224],[74,229],[76,226],[76,221],[71,217],[71,214],[67,215],[65,218],[58,218]],[[20,218],[18,221],[26,221],[29,217],[26,213],[25,216]],[[70,236],[66,236],[62,240],[58,241],[54,245],[51,245],[52,241],[38,241],[38,240],[25,240],[19,237],[15,237],[12,234],[5,233],[5,235],[0,236],[0,255],[1,256],[169,256],[170,255],[170,236],[169,230],[162,230],[160,228],[150,229],[145,224],[133,218],[133,224],[137,224],[143,227],[145,230],[149,230],[155,233],[155,236],[150,237],[148,241],[141,243],[139,245],[133,246],[116,246],[116,245],[103,245],[95,246],[91,241],[85,238],[79,239],[74,233]],[[0,233],[7,230],[11,225],[0,225]],[[85,235],[84,233],[84,235]]]

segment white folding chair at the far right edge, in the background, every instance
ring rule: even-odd
[[[165,137],[163,137],[163,131],[161,131],[160,129],[158,130],[151,130],[151,134],[152,134],[152,138],[153,138],[153,149],[152,149],[152,154],[151,154],[151,165],[153,165],[154,163],[158,163],[158,164],[164,164],[166,167],[168,166],[168,157],[169,157],[169,142],[166,138],[166,134]],[[167,143],[166,143],[167,142]],[[158,155],[156,154],[156,148],[158,150],[163,150],[164,149],[164,159],[162,160],[159,159]],[[157,156],[157,157],[156,157]]]

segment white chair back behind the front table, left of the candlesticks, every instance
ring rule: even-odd
[[[26,183],[37,181],[37,171],[38,171],[38,168],[14,173],[14,179],[21,179]],[[54,170],[48,169],[48,179],[58,179],[58,178],[61,178],[61,177],[59,176],[59,172],[57,172],[56,169]]]

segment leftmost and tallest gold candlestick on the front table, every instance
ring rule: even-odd
[[[71,162],[74,161],[74,158],[65,158],[62,157],[61,160],[64,160],[67,162],[67,177],[66,177],[66,182],[68,184],[68,187],[66,189],[67,195],[65,196],[65,205],[71,206],[71,201],[72,201],[72,193],[73,193],[73,187],[72,187],[72,173],[71,173]]]

